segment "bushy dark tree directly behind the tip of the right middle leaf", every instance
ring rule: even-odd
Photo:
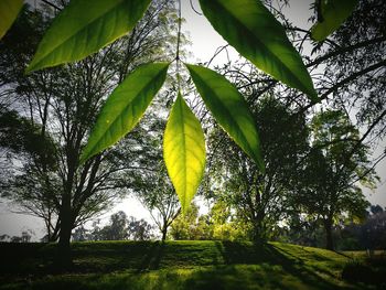
[[[233,206],[250,226],[250,237],[260,240],[285,214],[283,201],[297,178],[297,168],[308,148],[304,118],[292,115],[272,97],[255,110],[266,172],[240,152],[226,136],[214,131],[211,142],[214,192]]]

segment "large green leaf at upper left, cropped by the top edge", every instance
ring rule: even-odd
[[[26,72],[79,61],[128,33],[150,0],[72,0],[55,18]]]

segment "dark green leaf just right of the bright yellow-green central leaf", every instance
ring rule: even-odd
[[[213,117],[264,172],[256,123],[244,97],[216,72],[199,65],[186,67]]]

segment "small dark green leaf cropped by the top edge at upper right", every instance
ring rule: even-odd
[[[323,41],[333,33],[351,15],[357,0],[320,0],[318,21],[311,29],[314,41]]]

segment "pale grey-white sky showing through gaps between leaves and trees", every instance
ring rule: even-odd
[[[34,0],[31,0],[30,2],[33,3]],[[292,0],[290,3],[290,7],[285,8],[285,14],[288,15],[290,21],[296,25],[310,28],[311,23],[308,22],[308,19],[311,15],[311,11],[309,10],[311,0]],[[190,0],[181,0],[181,4],[182,18],[185,19],[185,22],[182,25],[182,31],[189,33],[192,42],[192,46],[190,47],[192,56],[186,61],[192,63],[207,62],[212,58],[217,47],[225,45],[226,42],[214,31],[205,17],[199,14],[201,10],[197,0],[192,0],[191,2]],[[193,6],[199,13],[196,13],[191,6]],[[236,51],[233,49],[229,49],[228,53],[230,57],[237,56]],[[222,64],[226,62],[226,54],[222,53],[214,60],[213,64]],[[375,152],[375,155],[380,152],[382,148],[386,148],[386,140],[379,144],[379,149]],[[372,192],[365,189],[364,192],[372,204],[380,204],[386,207],[386,160],[383,160],[376,170],[382,178],[377,190]],[[44,225],[41,219],[32,216],[19,215],[12,213],[12,211],[14,211],[14,207],[1,203],[0,201],[0,235],[21,235],[22,230],[28,229],[34,230],[34,240],[37,240],[44,235]],[[106,223],[108,217],[118,211],[124,211],[128,216],[131,215],[136,218],[144,218],[148,222],[151,222],[148,211],[135,198],[127,198],[120,202],[110,212],[101,215],[100,219]],[[205,212],[205,208],[202,208],[202,211]]]

